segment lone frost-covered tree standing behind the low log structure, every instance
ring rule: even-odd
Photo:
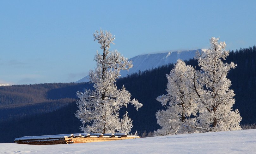
[[[120,70],[130,69],[132,62],[116,50],[109,51],[115,39],[109,31],[96,31],[93,36],[102,49],[102,53],[97,51],[94,57],[97,67],[89,72],[94,90],[77,92],[79,110],[75,116],[80,118],[82,124],[86,124],[85,127],[81,126],[85,133],[128,133],[133,126],[132,120],[127,112],[120,119],[119,110],[129,103],[136,109],[142,107],[142,104],[131,99],[131,94],[124,86],[118,89],[115,82],[120,76]]]

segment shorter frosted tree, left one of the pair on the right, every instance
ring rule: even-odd
[[[167,95],[157,97],[157,101],[166,110],[159,110],[156,113],[157,123],[161,129],[155,131],[155,135],[174,135],[184,133],[194,133],[197,108],[197,94],[193,90],[193,75],[195,69],[186,66],[182,60],[178,60],[170,74],[166,74],[168,79]]]

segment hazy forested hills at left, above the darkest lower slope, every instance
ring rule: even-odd
[[[12,117],[48,113],[76,102],[76,92],[88,83],[46,83],[0,86],[0,122]]]

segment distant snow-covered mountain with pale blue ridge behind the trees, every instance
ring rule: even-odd
[[[121,73],[121,76],[124,77],[127,74],[136,73],[139,70],[144,71],[152,68],[157,68],[164,64],[176,63],[178,59],[189,60],[195,57],[195,53],[197,51],[202,52],[202,50],[205,50],[205,49],[138,55],[136,57],[129,59],[133,63],[133,68],[129,69],[129,72],[126,70],[125,71],[122,70],[120,73]],[[76,83],[88,82],[88,81],[89,81],[89,76],[86,76],[81,80],[76,81]]]

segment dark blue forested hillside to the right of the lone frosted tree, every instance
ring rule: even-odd
[[[230,55],[224,61],[226,63],[234,62],[237,64],[235,69],[231,69],[228,78],[231,80],[231,87],[235,91],[235,105],[233,109],[239,109],[241,113],[241,124],[256,123],[256,47],[244,48],[236,51],[230,51]],[[190,59],[185,61],[187,65],[195,66],[197,60]],[[128,108],[131,118],[134,120],[134,129],[152,131],[158,128],[156,124],[155,113],[161,109],[161,103],[155,99],[157,96],[166,94],[166,74],[169,74],[173,64],[164,65],[157,69],[146,70],[131,74],[118,80],[117,85],[125,85],[131,92],[132,97],[143,103],[143,107],[138,112]],[[133,117],[133,113],[136,117]],[[138,124],[137,124],[138,123]]]

